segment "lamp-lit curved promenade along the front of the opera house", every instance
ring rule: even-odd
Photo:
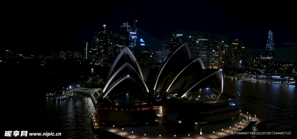
[[[95,127],[101,128],[102,130],[109,131],[111,133],[117,134],[124,138],[130,139],[215,139],[215,138],[222,138],[231,135],[231,132],[240,132],[244,130],[249,125],[255,125],[260,123],[259,118],[251,117],[248,120],[248,114],[240,113],[240,118],[223,124],[217,125],[208,125],[208,126],[200,126],[196,127],[193,131],[184,133],[184,134],[172,134],[167,133],[167,127],[163,126],[165,123],[163,116],[158,115],[159,122],[157,126],[148,126],[148,127],[102,127],[97,125],[97,118],[92,116],[92,121]],[[95,120],[95,121],[94,121]],[[263,119],[261,120],[263,122]],[[240,123],[241,122],[241,123]],[[96,123],[96,124],[95,124]],[[236,124],[236,125],[235,125]],[[230,128],[231,127],[231,128]],[[238,130],[238,127],[241,129]],[[123,130],[124,128],[124,130]],[[179,128],[179,127],[176,127]],[[200,129],[202,129],[202,137],[200,136]],[[223,129],[223,130],[222,130]],[[133,133],[132,133],[133,131]],[[146,135],[145,135],[146,134]],[[133,137],[132,137],[133,135]],[[161,136],[160,136],[161,135]],[[175,136],[174,136],[175,135]]]

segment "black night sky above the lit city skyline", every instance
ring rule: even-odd
[[[182,33],[208,35],[218,41],[239,39],[246,53],[258,50],[265,55],[269,29],[274,32],[278,61],[297,61],[296,11],[293,3],[260,1],[96,1],[91,3],[23,3],[11,7],[5,23],[10,39],[5,49],[25,54],[51,51],[81,51],[106,24],[108,31],[119,33],[121,20],[133,14],[138,20],[138,39],[152,49],[161,47],[162,35]],[[19,11],[14,13],[13,11]],[[169,34],[169,35],[170,35]],[[26,39],[19,39],[24,37]]]

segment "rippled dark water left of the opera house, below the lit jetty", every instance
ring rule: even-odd
[[[91,128],[90,116],[95,111],[89,97],[75,94],[73,98],[54,101],[46,98],[48,129],[62,132],[65,138],[98,138]]]

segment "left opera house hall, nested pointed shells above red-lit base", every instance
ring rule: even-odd
[[[134,55],[124,47],[113,63],[104,88],[97,91],[99,124],[154,123],[153,99]]]

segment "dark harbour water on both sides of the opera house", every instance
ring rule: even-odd
[[[267,120],[266,124],[251,126],[246,132],[291,132],[291,135],[233,135],[226,138],[296,138],[296,86],[224,78],[224,92],[235,96],[235,104],[242,112]],[[95,109],[89,97],[75,94],[63,101],[53,98],[45,98],[45,101],[45,125],[51,131],[61,132],[64,138],[105,138],[92,131],[90,116]]]

